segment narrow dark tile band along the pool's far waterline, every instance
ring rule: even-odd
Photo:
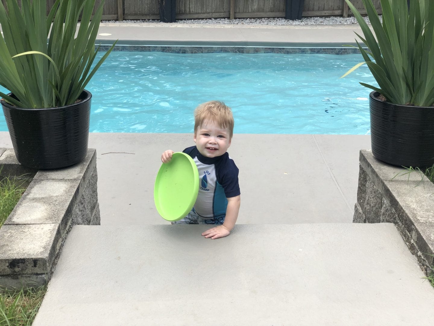
[[[96,46],[95,46],[96,47]],[[99,51],[107,51],[110,45],[101,45]],[[143,51],[166,53],[283,53],[283,54],[357,54],[353,47],[218,47],[218,46],[153,46],[117,45],[114,51]]]

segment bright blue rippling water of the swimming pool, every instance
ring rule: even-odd
[[[99,53],[101,57],[103,53]],[[191,133],[193,110],[221,100],[234,133],[369,133],[359,54],[112,52],[94,75],[91,132]],[[0,86],[1,91],[5,91]],[[0,130],[7,131],[3,115]]]

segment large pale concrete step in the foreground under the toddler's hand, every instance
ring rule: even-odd
[[[74,226],[33,326],[429,325],[395,226]]]

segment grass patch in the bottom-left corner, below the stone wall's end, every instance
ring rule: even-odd
[[[31,326],[47,286],[0,294],[0,326]]]

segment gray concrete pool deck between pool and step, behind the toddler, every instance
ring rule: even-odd
[[[165,149],[194,145],[191,134],[90,133],[96,148],[102,225],[167,224],[155,210],[155,176]],[[238,223],[351,223],[358,151],[369,136],[235,134],[240,168]],[[0,147],[12,147],[0,133]],[[369,147],[370,148],[370,147]]]

